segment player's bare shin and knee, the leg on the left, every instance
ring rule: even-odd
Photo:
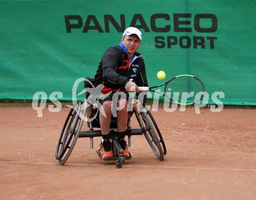
[[[101,114],[101,112],[99,112],[99,123],[101,125],[102,134],[109,133],[109,126],[110,126],[111,117],[112,117],[111,104],[112,104],[111,101],[104,101],[104,103],[102,104],[101,110],[104,109],[106,113],[106,118],[104,117],[104,115]]]

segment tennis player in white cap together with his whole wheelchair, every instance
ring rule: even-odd
[[[116,167],[122,168],[123,162],[131,159],[128,150],[131,136],[142,134],[157,158],[163,161],[165,143],[157,122],[144,107],[146,93],[140,93],[139,88],[148,87],[144,60],[137,52],[141,39],[137,28],[126,28],[119,45],[107,49],[102,56],[94,79],[84,79],[86,99],[71,108],[59,136],[55,152],[59,165],[67,161],[79,137],[90,137],[91,148],[93,138],[102,137],[97,154],[104,161],[115,160]],[[130,94],[137,94],[140,101],[130,98]],[[131,115],[135,115],[140,129],[131,128]],[[84,121],[90,130],[81,131]]]

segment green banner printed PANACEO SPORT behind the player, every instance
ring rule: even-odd
[[[254,1],[0,1],[0,99],[43,91],[72,99],[74,81],[93,77],[126,27],[143,32],[150,85],[192,74],[224,104],[256,105]],[[83,84],[80,84],[80,90]]]

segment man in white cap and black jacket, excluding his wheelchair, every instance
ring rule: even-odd
[[[100,144],[101,158],[108,159],[113,157],[110,124],[113,107],[122,108],[117,110],[117,130],[118,141],[123,148],[123,157],[129,157],[128,146],[125,141],[128,119],[128,100],[129,93],[140,93],[138,86],[148,86],[145,64],[141,54],[137,52],[140,47],[142,34],[140,30],[134,27],[126,28],[123,37],[118,46],[108,48],[99,63],[97,73],[94,77],[94,86],[103,84],[101,90],[103,94],[109,94],[105,99],[100,99],[102,104],[99,108],[99,123],[102,132],[102,141]],[[123,95],[114,95],[116,92],[123,92]],[[113,100],[113,97],[118,99]],[[133,109],[144,104],[137,99],[133,100]],[[105,117],[102,113],[105,112]]]

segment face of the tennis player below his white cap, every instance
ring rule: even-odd
[[[133,55],[137,52],[138,48],[140,48],[140,39],[138,39],[137,35],[125,35],[125,38],[121,40],[123,44],[126,46],[127,52],[130,55]]]

